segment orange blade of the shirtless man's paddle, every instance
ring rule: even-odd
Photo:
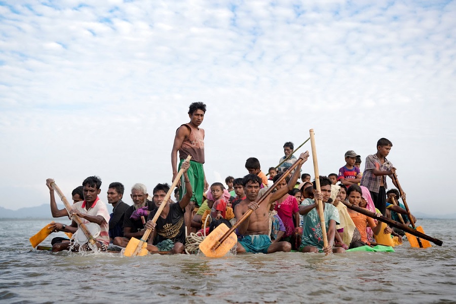
[[[221,257],[230,251],[238,242],[238,237],[234,232],[224,240],[217,249],[214,250],[213,248],[229,230],[230,229],[225,224],[220,224],[214,229],[214,231],[212,231],[200,244],[200,250],[204,255],[209,257]]]

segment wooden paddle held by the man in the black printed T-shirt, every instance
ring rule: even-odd
[[[185,162],[189,162],[190,159],[192,158],[191,155],[187,156],[185,159]],[[152,222],[155,224],[160,216],[160,214],[163,211],[163,208],[165,208],[166,203],[168,202],[169,198],[171,197],[171,194],[174,192],[174,187],[177,185],[179,182],[180,177],[182,176],[183,172],[185,171],[184,168],[180,168],[179,172],[177,172],[176,178],[174,178],[173,183],[169,187],[168,193],[166,194],[165,198],[163,199],[162,203],[160,204],[160,207],[157,210],[157,213],[155,214],[154,218],[152,219]],[[146,229],[144,234],[142,235],[142,238],[140,240],[136,238],[131,238],[130,241],[128,242],[127,247],[125,248],[124,255],[125,256],[136,256],[136,255],[146,255],[148,254],[147,251],[147,239],[149,237],[149,234],[152,232],[151,229]]]

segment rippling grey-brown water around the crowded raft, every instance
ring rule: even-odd
[[[28,238],[49,222],[0,220],[1,302],[456,303],[455,220],[419,222],[442,247],[216,259],[30,251]]]

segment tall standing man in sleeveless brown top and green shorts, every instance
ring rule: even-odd
[[[173,149],[171,151],[171,166],[173,168],[173,181],[183,161],[188,155],[192,156],[190,168],[188,168],[188,179],[192,185],[193,194],[190,203],[185,207],[185,226],[187,231],[191,231],[192,213],[196,205],[201,206],[203,203],[203,193],[209,187],[204,174],[204,130],[200,128],[206,113],[206,105],[202,102],[194,102],[188,108],[188,117],[190,122],[181,125],[174,137]],[[177,166],[177,151],[179,151],[179,166]],[[186,191],[181,185],[184,183],[184,176],[177,183],[180,187],[179,198],[182,200]]]

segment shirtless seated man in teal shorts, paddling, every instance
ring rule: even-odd
[[[301,153],[299,157],[304,160],[303,162],[306,162],[309,152]],[[288,242],[271,242],[269,235],[269,210],[273,202],[283,197],[294,187],[303,162],[295,168],[287,186],[281,187],[276,192],[271,193],[264,199],[261,205],[258,205],[256,202],[259,199],[258,194],[262,183],[261,178],[256,174],[248,174],[243,178],[242,183],[246,198],[236,206],[235,216],[237,220],[240,220],[248,209],[252,209],[253,212],[238,227],[238,233],[242,235],[242,239],[238,241],[238,253],[273,253],[277,251],[289,252],[291,250],[291,244]]]

